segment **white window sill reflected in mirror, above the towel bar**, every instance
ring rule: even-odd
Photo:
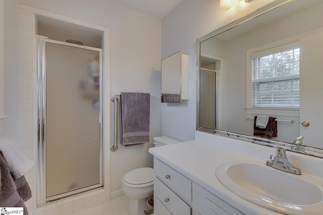
[[[299,117],[299,108],[245,108],[246,114]]]

